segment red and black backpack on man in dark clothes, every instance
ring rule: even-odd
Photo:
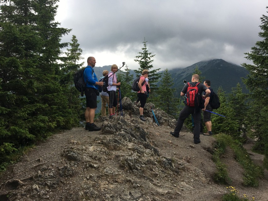
[[[198,87],[197,87],[199,82],[196,83],[195,85],[192,82],[187,82],[187,83],[188,83],[188,88],[185,94],[186,105],[190,107],[199,107],[200,99],[201,99],[201,96],[198,93]]]

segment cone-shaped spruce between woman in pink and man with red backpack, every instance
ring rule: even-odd
[[[178,113],[179,98],[175,98],[176,88],[172,88],[174,80],[171,78],[168,69],[164,70],[161,84],[158,89],[156,107],[163,109],[167,114],[176,116]]]

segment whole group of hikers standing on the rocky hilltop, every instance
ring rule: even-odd
[[[97,108],[97,96],[101,92],[101,115],[106,116],[106,104],[108,104],[108,114],[109,118],[115,115],[115,108],[117,105],[116,91],[120,91],[120,82],[117,81],[116,72],[118,71],[118,66],[113,64],[111,66],[111,71],[103,71],[103,77],[98,81],[96,74],[94,73],[94,66],[96,64],[96,59],[94,57],[88,57],[87,67],[83,71],[83,79],[86,83],[85,95],[86,95],[86,130],[88,131],[99,131],[101,127],[94,124],[95,111]],[[124,62],[123,62],[124,65]],[[148,93],[150,92],[149,82],[148,82],[148,70],[143,70],[142,75],[140,75],[132,84],[132,90],[137,92],[137,102],[140,101],[140,119],[146,121],[143,117],[143,108],[145,106]],[[204,95],[202,95],[204,92]],[[199,75],[195,74],[192,76],[191,82],[185,84],[181,90],[181,96],[185,96],[185,106],[181,110],[176,127],[174,131],[170,134],[174,137],[179,137],[181,128],[183,126],[184,120],[192,114],[192,119],[194,123],[193,131],[193,141],[195,144],[200,143],[200,134],[211,136],[211,111],[213,107],[211,103],[211,95],[214,92],[210,87],[210,81],[204,81],[204,84],[199,83]],[[216,94],[215,94],[216,95]],[[200,132],[201,125],[201,111],[203,110],[203,121],[207,127],[208,132]],[[209,112],[210,111],[210,112]]]

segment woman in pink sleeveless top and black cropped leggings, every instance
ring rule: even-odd
[[[144,117],[143,117],[143,108],[145,106],[146,99],[147,99],[147,91],[146,91],[146,81],[145,81],[145,79],[148,77],[148,73],[149,73],[149,71],[147,69],[142,70],[142,75],[140,76],[140,80],[138,82],[138,86],[140,88],[140,91],[137,92],[137,96],[138,96],[138,98],[139,98],[139,100],[141,102],[140,119],[142,121],[146,121],[146,119],[144,119]],[[143,84],[144,81],[145,81],[145,83]]]

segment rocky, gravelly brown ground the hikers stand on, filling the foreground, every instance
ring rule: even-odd
[[[228,189],[213,181],[215,139],[201,135],[201,143],[194,144],[185,128],[172,137],[176,120],[155,109],[157,126],[151,105],[146,104],[143,122],[138,107],[123,98],[124,116],[98,119],[102,130],[78,127],[39,142],[0,175],[0,200],[221,201]],[[261,164],[263,156],[250,146],[245,148]],[[231,149],[222,160],[240,195],[268,201],[267,171],[258,188],[244,187],[243,168]]]

